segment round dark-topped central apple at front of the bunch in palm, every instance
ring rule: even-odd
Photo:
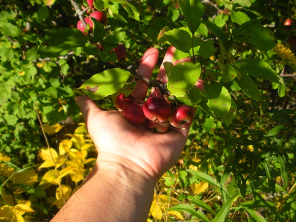
[[[165,122],[171,115],[171,106],[164,97],[152,96],[144,103],[145,116],[154,122]]]

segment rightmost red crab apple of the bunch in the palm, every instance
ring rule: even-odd
[[[172,110],[169,122],[176,128],[186,128],[190,126],[194,117],[191,107],[180,105]]]

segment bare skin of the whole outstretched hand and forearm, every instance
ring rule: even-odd
[[[165,58],[172,58],[173,52],[169,47]],[[158,56],[156,48],[149,48],[138,74],[150,77]],[[165,58],[164,62],[170,61]],[[147,89],[139,82],[133,96],[143,99]],[[155,133],[145,123],[129,123],[119,111],[102,111],[86,96],[77,97],[76,103],[98,157],[93,170],[52,222],[146,222],[154,186],[179,159],[189,127]]]

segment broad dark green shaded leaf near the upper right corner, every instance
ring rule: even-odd
[[[274,38],[272,32],[262,26],[258,19],[245,22],[235,29],[233,40],[248,42],[260,51],[268,51],[277,44],[277,40]]]

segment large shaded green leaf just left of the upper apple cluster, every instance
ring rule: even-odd
[[[47,33],[39,45],[37,54],[58,57],[76,47],[83,47],[88,38],[78,29],[56,28]]]

